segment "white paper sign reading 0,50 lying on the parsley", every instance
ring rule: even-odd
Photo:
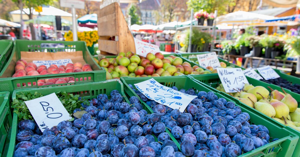
[[[25,104],[42,132],[72,118],[55,93],[25,101]]]

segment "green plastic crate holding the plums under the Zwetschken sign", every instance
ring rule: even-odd
[[[202,85],[201,83],[193,80],[192,78],[188,76],[173,76],[173,77],[153,77],[156,81],[161,83],[162,85],[165,85],[167,87],[173,87],[176,86],[178,89],[189,89],[193,88],[196,92],[199,91],[211,91],[211,89],[205,87],[205,85]],[[125,94],[128,94],[130,96],[137,96],[138,95],[129,87],[128,84],[131,84],[134,86],[135,83],[143,82],[146,81],[150,78],[131,78],[131,77],[122,77],[121,81],[124,84],[124,90]],[[227,101],[232,101],[227,97],[224,97],[223,95],[216,93],[216,95],[219,98],[225,98]],[[140,99],[140,97],[139,97]],[[141,102],[143,102],[140,99]],[[147,108],[151,112],[152,109],[144,103]],[[294,152],[295,146],[298,142],[299,136],[292,133],[291,131],[288,131],[287,129],[281,127],[275,122],[272,121],[265,121],[262,119],[263,115],[256,110],[250,110],[242,105],[239,105],[235,103],[236,106],[241,107],[242,112],[247,112],[251,119],[250,119],[250,124],[260,124],[260,125],[265,125],[269,130],[270,130],[270,137],[274,138],[279,138],[280,140],[276,140],[272,143],[269,143],[265,146],[256,148],[250,152],[247,152],[243,155],[240,156],[268,156],[268,157],[274,157],[274,156],[285,156],[285,157],[290,157],[292,156],[292,153]],[[180,148],[180,144],[174,140],[174,137],[172,134],[170,134],[170,137],[172,140],[176,143],[176,145]],[[272,151],[272,149],[274,150]]]

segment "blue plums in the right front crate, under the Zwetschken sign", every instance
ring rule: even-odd
[[[181,113],[179,109],[162,108],[133,85],[128,85],[154,113],[161,115],[161,122],[180,143],[183,155],[175,152],[176,156],[235,157],[278,140],[269,136],[264,125],[250,125],[250,115],[235,103],[218,98],[211,91],[196,93],[194,89],[179,90],[173,86],[174,90],[198,96]],[[169,154],[174,154],[174,150]]]

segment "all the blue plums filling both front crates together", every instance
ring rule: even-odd
[[[196,95],[192,89],[180,91]],[[110,93],[110,99],[99,94],[89,100],[89,106],[82,103],[82,108],[74,110],[87,112],[81,118],[62,121],[43,133],[32,120],[19,122],[13,156],[231,157],[269,143],[265,126],[250,125],[247,113],[213,92],[197,93],[184,113],[135,92],[154,113],[147,113],[138,97],[130,97],[129,104],[117,90]],[[170,136],[181,144],[181,151]]]

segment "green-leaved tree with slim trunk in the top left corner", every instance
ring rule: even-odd
[[[13,0],[19,6],[19,0]],[[29,8],[29,13],[25,13],[28,15],[29,19],[33,19],[33,9],[41,6],[41,5],[51,5],[55,0],[22,0],[23,8]],[[30,29],[32,34],[32,40],[35,40],[35,29],[33,23],[30,23]],[[20,30],[22,31],[22,30]]]

